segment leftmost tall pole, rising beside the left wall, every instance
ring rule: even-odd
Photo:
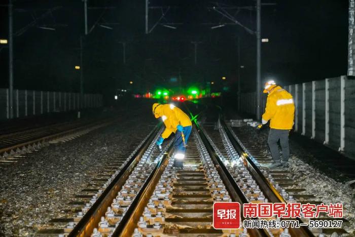
[[[14,117],[14,52],[13,52],[13,5],[9,0],[9,117]]]

